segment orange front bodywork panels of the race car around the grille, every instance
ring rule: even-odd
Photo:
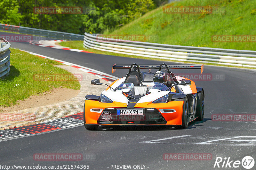
[[[90,112],[90,109],[105,109],[105,108],[126,108],[126,103],[113,102],[113,103],[101,103],[99,101],[85,100],[85,121],[86,124],[97,124],[97,120],[101,113]],[[161,113],[164,119],[167,121],[167,125],[182,124],[182,109],[183,101],[175,101],[168,103],[138,103],[134,108],[155,108],[158,111],[160,109],[174,109],[175,113]],[[103,124],[100,124],[103,125]],[[109,125],[109,124],[108,124]],[[123,124],[122,124],[123,125]],[[141,125],[141,124],[140,124]],[[159,125],[159,124],[156,124]]]

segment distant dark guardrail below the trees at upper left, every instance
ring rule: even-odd
[[[21,34],[39,35],[46,38],[58,39],[58,40],[83,40],[84,35],[73,34],[68,32],[49,31],[36,28],[28,28],[24,26],[0,24],[0,30],[19,32]]]

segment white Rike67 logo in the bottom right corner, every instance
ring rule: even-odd
[[[251,169],[254,166],[254,159],[251,156],[245,156],[242,161],[240,160],[231,160],[230,157],[225,157],[224,159],[221,157],[217,157],[214,163],[214,168],[238,168],[241,167],[241,165],[245,169]]]

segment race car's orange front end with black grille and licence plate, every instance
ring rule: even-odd
[[[180,125],[183,101],[152,103],[129,101],[102,103],[85,100],[84,117],[90,125]],[[100,98],[100,96],[99,96]]]

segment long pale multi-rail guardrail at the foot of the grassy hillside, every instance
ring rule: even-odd
[[[112,53],[198,63],[256,67],[256,51],[128,41],[84,33],[84,47]]]

